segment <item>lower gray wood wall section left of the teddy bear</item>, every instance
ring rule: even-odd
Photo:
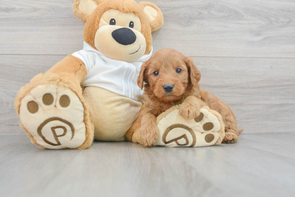
[[[20,88],[66,56],[0,55],[0,135],[26,135],[19,127],[14,99]]]

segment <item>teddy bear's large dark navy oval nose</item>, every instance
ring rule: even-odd
[[[112,36],[121,45],[131,45],[136,40],[135,33],[126,27],[114,30]]]

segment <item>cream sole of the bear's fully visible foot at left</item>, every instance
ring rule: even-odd
[[[21,100],[20,120],[48,149],[77,148],[86,138],[84,108],[70,89],[39,85]]]

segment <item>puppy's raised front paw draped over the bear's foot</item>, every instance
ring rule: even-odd
[[[193,119],[200,115],[200,108],[206,106],[202,100],[195,96],[185,98],[179,108],[179,114],[185,119]]]

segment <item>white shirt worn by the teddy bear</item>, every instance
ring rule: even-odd
[[[133,100],[143,101],[143,91],[137,85],[137,78],[142,63],[148,60],[153,52],[134,62],[113,60],[84,41],[83,50],[72,55],[82,60],[87,68],[83,86],[97,86]]]

